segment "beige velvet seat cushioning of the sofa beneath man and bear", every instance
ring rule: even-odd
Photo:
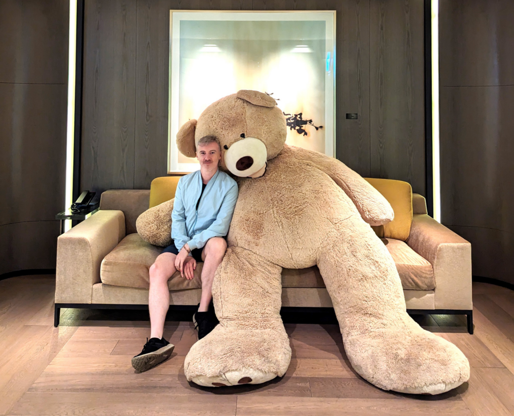
[[[432,265],[400,240],[382,239],[396,263],[403,289],[433,290],[435,288]],[[162,252],[161,247],[144,242],[138,233],[127,235],[102,261],[102,283],[112,286],[149,288],[149,268]],[[201,269],[198,263],[195,278],[187,280],[176,272],[168,281],[170,290],[201,287]],[[324,288],[323,278],[316,266],[306,269],[284,269],[282,287]]]

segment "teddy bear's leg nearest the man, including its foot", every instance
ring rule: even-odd
[[[280,318],[281,271],[251,251],[227,249],[212,286],[219,325],[186,356],[188,381],[259,384],[285,374],[291,348]]]

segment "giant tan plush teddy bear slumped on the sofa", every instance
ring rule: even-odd
[[[453,344],[407,314],[395,264],[370,225],[393,219],[383,196],[343,163],[285,144],[276,101],[241,90],[211,104],[177,134],[194,157],[215,135],[220,168],[239,198],[228,249],[212,287],[219,325],[189,351],[184,371],[203,386],[263,383],[282,377],[291,359],[280,318],[282,268],[317,265],[332,298],[353,368],[384,390],[437,394],[469,379]],[[173,200],[143,213],[144,240],[169,244]]]

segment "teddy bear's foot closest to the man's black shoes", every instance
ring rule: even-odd
[[[291,360],[284,328],[228,329],[221,325],[191,347],[184,361],[188,381],[223,387],[282,377]]]

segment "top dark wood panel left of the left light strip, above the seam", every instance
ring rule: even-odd
[[[69,2],[0,2],[0,82],[68,81]]]

